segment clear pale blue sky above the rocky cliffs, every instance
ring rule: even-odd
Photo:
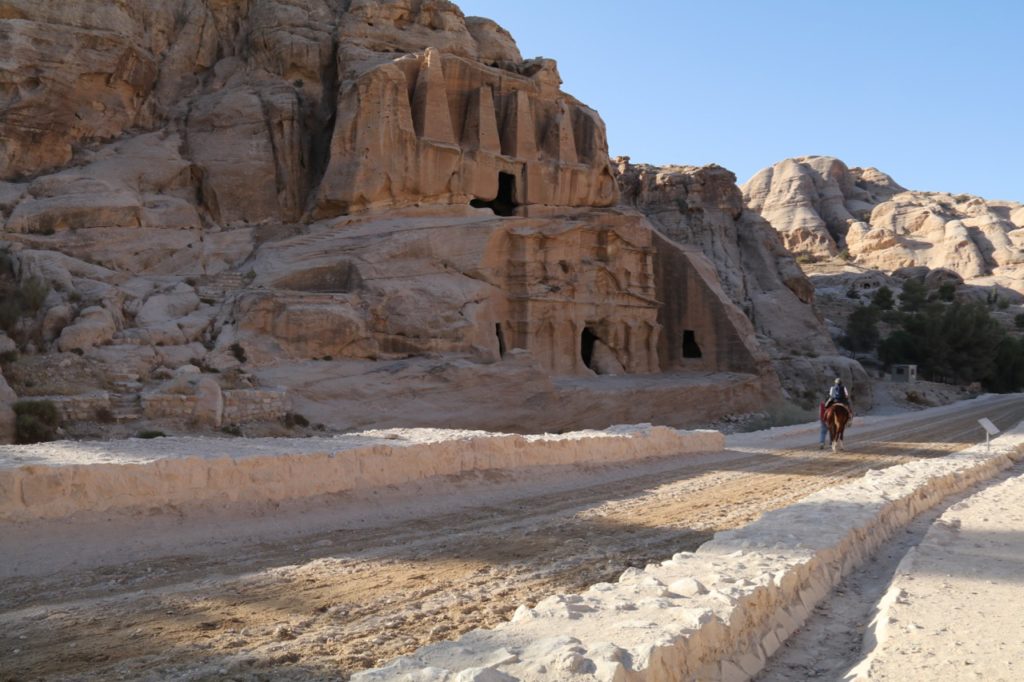
[[[456,0],[558,60],[612,156],[874,166],[1024,202],[1024,1]]]

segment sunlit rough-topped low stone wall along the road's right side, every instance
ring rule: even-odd
[[[695,553],[556,595],[352,682],[749,680],[845,574],[916,514],[1024,459],[1024,430],[941,460],[868,472]]]

